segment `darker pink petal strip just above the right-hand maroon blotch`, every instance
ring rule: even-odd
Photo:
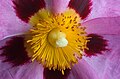
[[[96,18],[82,23],[86,27],[88,34],[119,34],[120,33],[120,17],[102,17]]]

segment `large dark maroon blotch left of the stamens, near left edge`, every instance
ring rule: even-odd
[[[30,59],[24,47],[23,37],[12,37],[0,50],[3,51],[1,56],[5,57],[3,62],[10,62],[13,66],[22,65]]]

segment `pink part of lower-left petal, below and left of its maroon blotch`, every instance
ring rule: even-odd
[[[0,41],[0,47],[8,40]],[[0,79],[43,79],[43,67],[37,62],[12,67],[12,64],[3,63],[2,60],[4,58],[0,56]]]

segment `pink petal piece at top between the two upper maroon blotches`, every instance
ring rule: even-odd
[[[45,0],[46,7],[53,13],[59,13],[66,10],[70,0]]]

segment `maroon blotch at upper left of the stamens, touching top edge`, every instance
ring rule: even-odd
[[[13,0],[13,4],[17,16],[25,22],[28,22],[39,9],[45,7],[44,0]]]

